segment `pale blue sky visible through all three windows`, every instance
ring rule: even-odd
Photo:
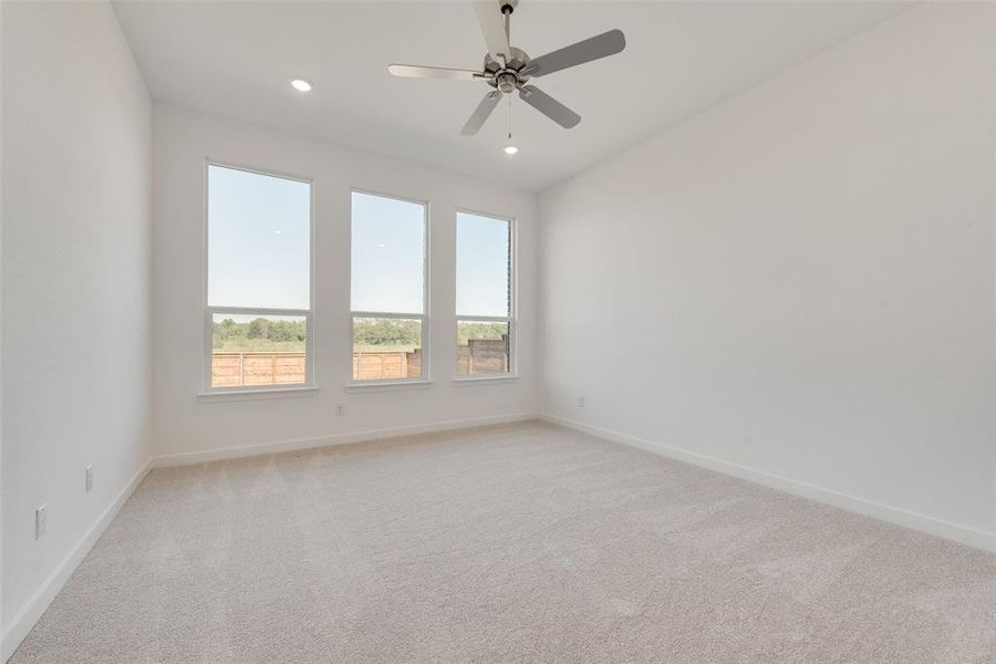
[[[209,303],[308,309],[310,185],[221,166],[208,183]],[[424,211],[353,193],[354,311],[423,311]],[[457,215],[459,315],[508,314],[508,221]]]

